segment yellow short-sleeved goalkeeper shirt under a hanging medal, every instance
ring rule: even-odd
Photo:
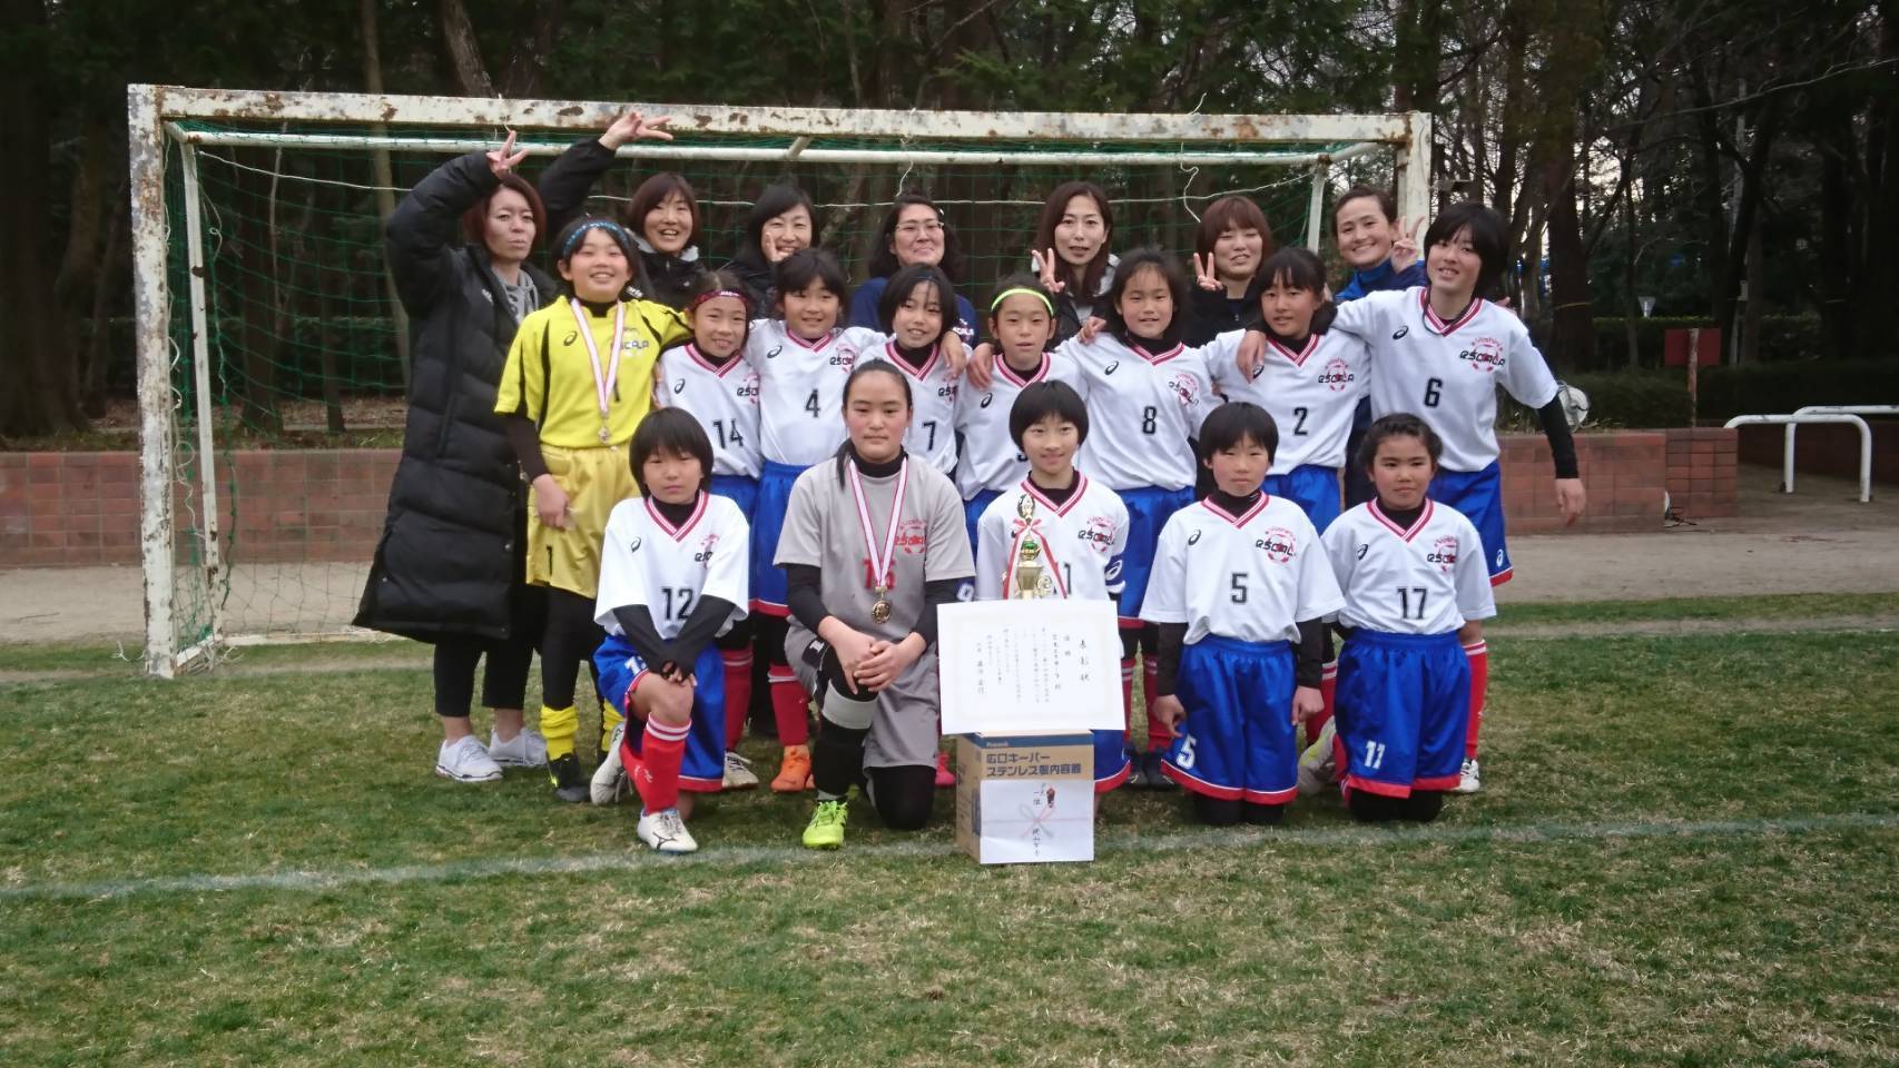
[[[663,304],[623,302],[627,324],[615,355],[619,370],[602,419],[598,383],[608,376],[608,355],[613,347],[613,305],[604,311],[579,305],[600,353],[598,379],[573,307],[575,302],[570,298],[520,321],[515,343],[507,351],[507,366],[501,370],[494,410],[499,415],[534,419],[541,442],[551,446],[570,450],[623,446],[632,440],[640,419],[653,404],[653,366],[659,362],[659,353],[686,341],[693,330],[684,315]]]

